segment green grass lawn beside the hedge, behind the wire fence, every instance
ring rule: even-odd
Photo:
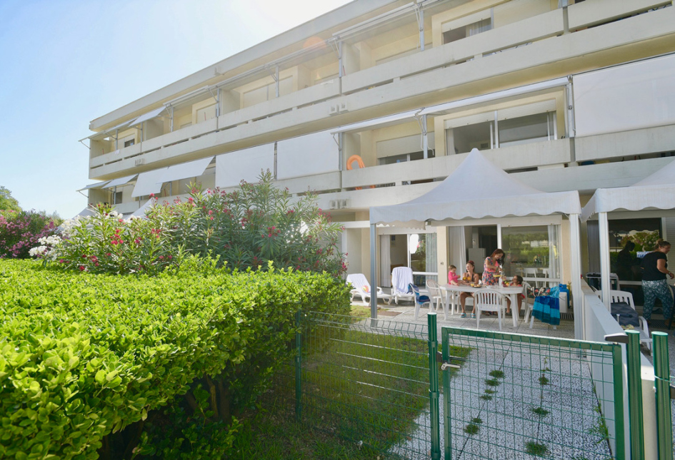
[[[370,307],[353,306],[352,315],[369,317]],[[426,340],[332,327],[313,333],[306,339],[320,351],[303,358],[303,422],[295,420],[289,366],[261,401],[266,410],[249,414],[236,458],[384,459],[416,431],[414,420],[429,408]]]

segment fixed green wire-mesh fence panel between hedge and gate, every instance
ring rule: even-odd
[[[301,421],[386,458],[428,458],[427,339],[420,324],[307,313]]]

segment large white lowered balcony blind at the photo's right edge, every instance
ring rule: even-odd
[[[675,55],[574,77],[576,136],[675,123]]]

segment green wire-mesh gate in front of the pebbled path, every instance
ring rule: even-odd
[[[619,344],[443,327],[441,353],[445,459],[625,458]]]

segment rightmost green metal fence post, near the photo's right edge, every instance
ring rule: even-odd
[[[656,390],[656,439],[659,460],[673,460],[673,431],[670,412],[670,363],[668,334],[652,332],[651,352],[654,356],[654,387]]]

